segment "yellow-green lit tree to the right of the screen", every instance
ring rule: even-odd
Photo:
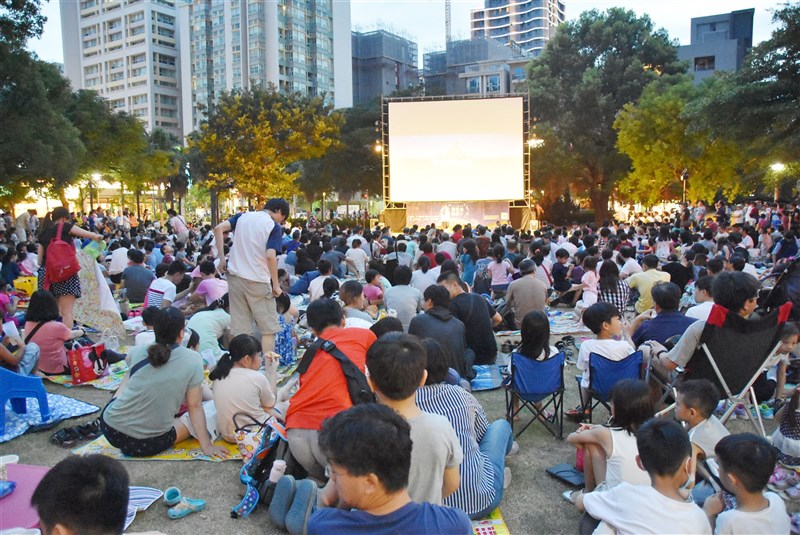
[[[733,197],[746,190],[744,173],[756,160],[748,159],[738,143],[693,127],[686,112],[714,83],[695,86],[688,77],[677,84],[657,80],[636,103],[623,106],[614,128],[617,148],[632,163],[619,188],[627,199],[654,205],[680,198],[687,178],[687,199],[713,199],[719,190]]]

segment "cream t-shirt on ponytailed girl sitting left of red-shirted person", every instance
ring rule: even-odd
[[[228,442],[236,442],[233,437],[233,415],[243,412],[259,422],[264,422],[269,415],[264,406],[275,406],[275,394],[269,388],[267,377],[255,370],[247,368],[231,368],[225,379],[211,384],[214,393],[214,405],[217,408],[217,429]],[[242,418],[241,422],[252,423]]]

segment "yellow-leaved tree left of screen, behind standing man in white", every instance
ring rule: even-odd
[[[233,183],[248,197],[289,196],[297,163],[335,145],[342,119],[324,97],[264,89],[224,93],[208,109],[198,136],[189,138],[204,160],[209,188]]]

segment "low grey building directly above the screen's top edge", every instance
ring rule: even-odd
[[[447,50],[423,56],[427,95],[501,95],[525,82],[531,55],[494,39],[450,43]]]

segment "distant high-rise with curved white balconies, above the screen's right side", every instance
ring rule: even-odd
[[[516,43],[533,56],[541,54],[566,21],[559,0],[484,0],[483,9],[473,9],[470,17],[472,37]]]

